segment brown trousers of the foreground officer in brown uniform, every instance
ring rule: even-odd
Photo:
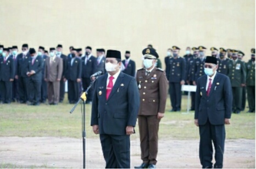
[[[158,129],[160,119],[155,116],[138,116],[141,140],[141,160],[146,164],[157,164]]]

